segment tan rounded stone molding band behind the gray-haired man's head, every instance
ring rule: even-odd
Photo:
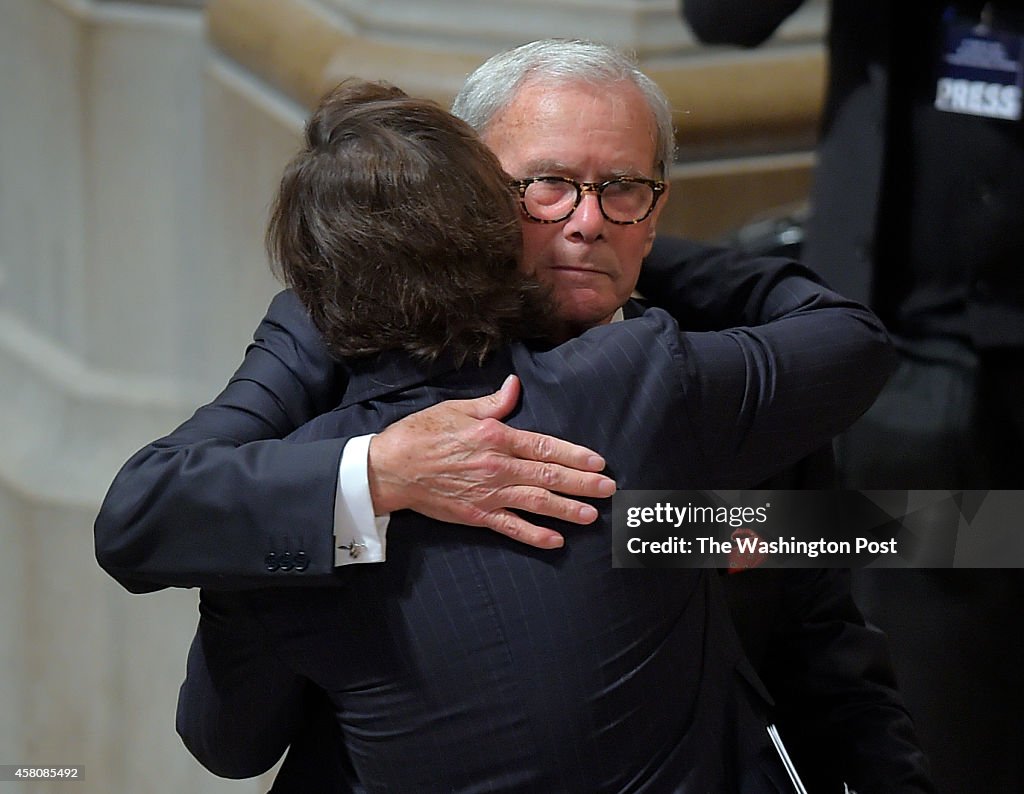
[[[374,39],[346,27],[332,4],[311,0],[211,0],[208,24],[214,47],[306,108],[349,76],[388,80],[446,105],[488,54]],[[691,51],[641,64],[676,109],[686,159],[806,149],[813,140],[820,45]]]

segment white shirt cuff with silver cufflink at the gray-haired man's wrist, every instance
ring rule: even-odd
[[[371,435],[350,440],[341,453],[334,498],[334,565],[383,562],[391,515],[374,515],[367,463]]]

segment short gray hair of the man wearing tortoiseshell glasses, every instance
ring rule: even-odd
[[[463,84],[452,113],[483,134],[487,125],[515,99],[524,83],[597,85],[629,82],[650,108],[657,140],[655,165],[668,174],[676,151],[672,108],[665,92],[640,71],[629,55],[607,44],[581,39],[544,39],[499,52],[485,60]]]

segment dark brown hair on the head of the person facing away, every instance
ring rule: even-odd
[[[518,269],[519,209],[462,121],[349,81],[306,125],[266,236],[276,271],[332,350],[482,359],[543,335],[544,293]]]

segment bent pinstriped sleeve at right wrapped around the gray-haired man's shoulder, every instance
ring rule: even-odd
[[[708,487],[750,488],[852,424],[895,354],[873,314],[798,263],[712,253],[655,270],[671,288],[658,297],[684,328],[750,323],[681,333],[674,351]]]

